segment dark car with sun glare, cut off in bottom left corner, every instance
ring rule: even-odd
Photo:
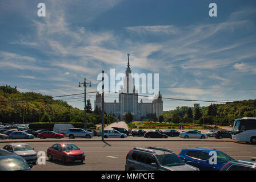
[[[0,171],[30,171],[31,167],[21,156],[0,150]]]

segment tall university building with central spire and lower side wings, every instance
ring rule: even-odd
[[[101,94],[97,93],[94,101],[94,107],[101,108]],[[138,102],[138,90],[134,86],[134,77],[131,76],[131,68],[128,64],[123,78],[123,86],[119,90],[119,102],[105,102],[104,110],[107,114],[114,114],[115,117],[123,120],[126,113],[133,114],[135,120],[140,120],[146,115],[155,114],[157,117],[163,112],[163,101],[160,92],[158,98],[152,102]]]

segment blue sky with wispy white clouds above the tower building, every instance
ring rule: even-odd
[[[255,15],[255,1],[1,0],[0,85],[60,96],[82,93],[86,77],[93,92],[103,69],[125,73],[130,53],[133,73],[159,73],[163,97],[255,99]],[[83,109],[82,96],[71,98]],[[164,100],[163,110],[194,103]]]

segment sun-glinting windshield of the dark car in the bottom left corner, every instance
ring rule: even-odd
[[[3,158],[0,159],[0,171],[17,171],[29,169],[29,165],[18,158]]]

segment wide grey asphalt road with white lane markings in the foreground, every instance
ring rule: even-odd
[[[69,140],[67,140],[69,141]],[[18,141],[17,141],[18,142]],[[35,151],[45,151],[49,146],[54,143],[49,142],[26,142],[31,147],[35,148]],[[46,158],[45,165],[37,164],[32,170],[99,170],[99,171],[122,171],[125,169],[125,158],[127,152],[133,147],[146,147],[156,146],[164,147],[173,150],[175,154],[179,154],[182,148],[186,147],[207,147],[216,148],[230,155],[234,159],[250,160],[256,159],[256,145],[237,142],[207,142],[207,141],[84,141],[84,142],[72,142],[77,145],[86,154],[86,160],[83,164],[66,164],[54,161],[50,162]],[[6,143],[0,143],[0,147],[5,146]]]

